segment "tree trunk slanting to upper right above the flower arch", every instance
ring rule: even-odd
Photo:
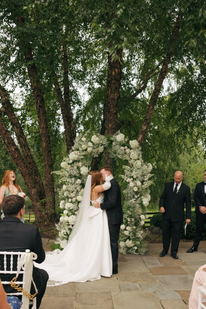
[[[163,83],[163,81],[166,77],[166,74],[168,72],[168,65],[169,65],[171,57],[174,53],[174,48],[175,48],[175,44],[177,42],[179,28],[180,28],[180,21],[182,20],[182,17],[183,17],[183,15],[181,15],[181,14],[178,14],[178,16],[177,16],[177,19],[176,19],[176,22],[175,22],[175,25],[174,25],[174,30],[172,32],[171,39],[170,39],[170,44],[169,44],[170,49],[167,52],[166,57],[163,61],[162,68],[161,68],[160,74],[158,76],[158,80],[157,80],[157,82],[154,86],[153,93],[152,93],[150,100],[149,100],[149,104],[148,104],[148,107],[147,107],[147,110],[146,110],[145,118],[143,120],[143,123],[141,125],[141,129],[140,129],[138,137],[137,137],[137,142],[139,143],[140,146],[144,142],[144,138],[145,138],[145,135],[148,131],[150,122],[152,120],[154,108],[157,104],[157,100],[158,100],[158,97],[159,97],[159,94],[160,94],[160,91],[161,91],[161,88],[162,88],[162,83]]]

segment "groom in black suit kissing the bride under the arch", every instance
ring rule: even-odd
[[[121,190],[118,182],[113,177],[113,170],[110,166],[101,167],[102,180],[105,182],[105,177],[111,182],[111,188],[104,191],[104,201],[99,203],[94,202],[96,208],[106,209],[110,244],[111,244],[111,255],[112,255],[112,274],[118,273],[118,239],[120,235],[120,225],[123,223],[123,212],[121,204]]]

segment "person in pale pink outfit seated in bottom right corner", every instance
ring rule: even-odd
[[[201,266],[195,273],[189,298],[189,309],[198,308],[198,286],[204,286],[206,288],[206,265]],[[203,304],[206,306],[206,303]]]

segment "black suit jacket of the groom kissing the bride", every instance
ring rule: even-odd
[[[104,201],[100,204],[100,207],[107,211],[108,225],[114,225],[123,223],[121,190],[114,178],[110,182],[111,188],[104,191]]]

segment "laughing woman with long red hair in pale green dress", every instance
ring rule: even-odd
[[[4,172],[4,176],[2,178],[2,186],[0,188],[0,204],[5,196],[10,194],[17,194],[22,192],[20,186],[16,183],[15,172],[12,170],[7,170]],[[4,218],[4,214],[2,212],[1,218]],[[21,220],[24,222],[24,218]]]

